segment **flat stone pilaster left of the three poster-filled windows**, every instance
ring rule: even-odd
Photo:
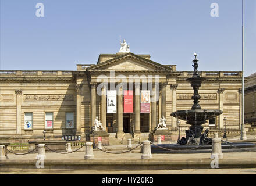
[[[15,90],[16,94],[16,134],[22,134],[22,90]]]

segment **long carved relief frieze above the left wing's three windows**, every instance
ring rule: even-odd
[[[74,101],[73,94],[26,94],[24,101]]]

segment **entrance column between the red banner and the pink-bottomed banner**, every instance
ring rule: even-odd
[[[135,126],[134,133],[140,133],[140,84],[135,83]]]

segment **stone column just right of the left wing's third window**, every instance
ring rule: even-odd
[[[81,135],[81,92],[83,84],[76,84],[76,134]]]

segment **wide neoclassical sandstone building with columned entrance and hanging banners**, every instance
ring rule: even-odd
[[[52,139],[63,135],[83,139],[96,116],[106,133],[114,134],[109,137],[118,139],[125,133],[147,138],[165,116],[175,138],[177,121],[170,113],[191,108],[193,88],[186,79],[193,71],[177,71],[176,65],[162,65],[150,57],[120,50],[99,55],[95,64],[78,64],[76,71],[0,71],[0,138],[37,139],[45,130]],[[225,116],[227,128],[239,129],[241,71],[200,74],[206,77],[199,91],[202,109],[223,110],[204,126],[222,129]],[[150,101],[142,96],[147,90]],[[182,121],[180,129],[187,128]]]

